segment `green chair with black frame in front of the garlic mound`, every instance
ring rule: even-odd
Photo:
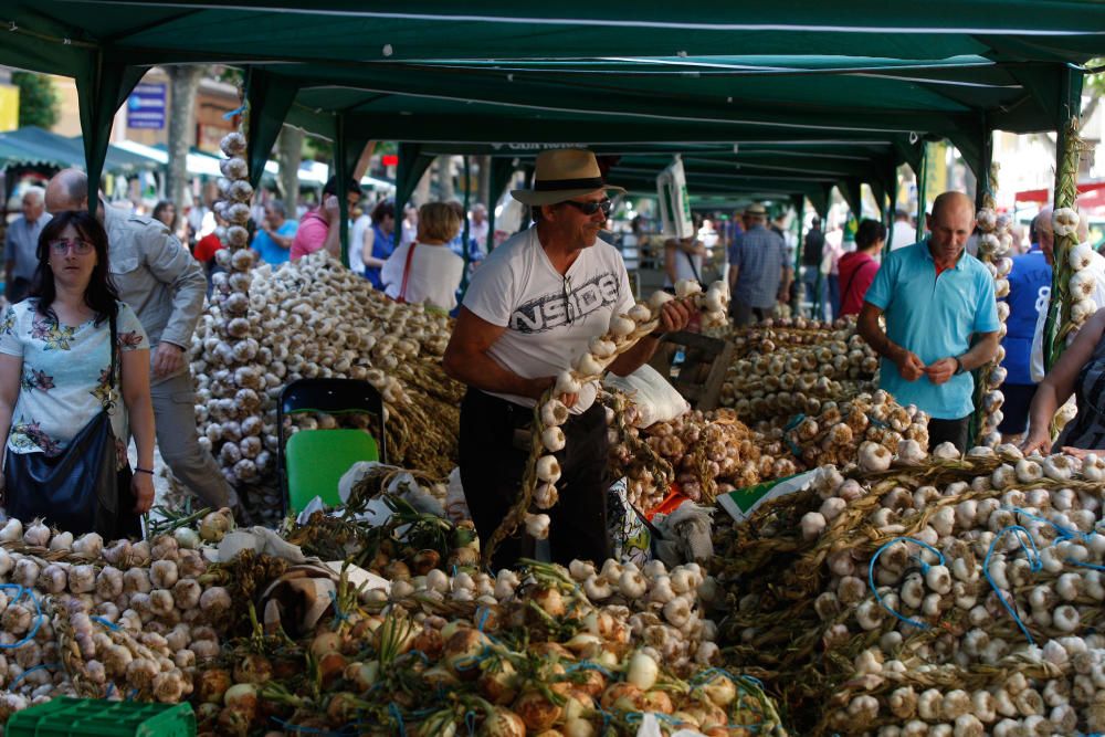
[[[362,430],[301,430],[285,442],[284,415],[301,412],[370,412],[379,418],[376,436]],[[367,381],[301,379],[281,392],[276,406],[277,465],[284,514],[301,512],[320,497],[338,506],[338,481],[358,461],[387,461],[383,400]]]

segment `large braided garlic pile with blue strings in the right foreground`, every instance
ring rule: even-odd
[[[715,536],[736,561],[718,561],[722,644],[817,684],[789,704],[811,734],[1101,731],[1103,478],[1101,459],[1011,445],[823,466],[744,537]]]

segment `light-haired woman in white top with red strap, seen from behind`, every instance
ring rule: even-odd
[[[380,281],[392,299],[422,303],[442,312],[456,306],[464,260],[449,249],[461,229],[461,219],[444,202],[419,209],[418,238],[400,245],[383,262]]]

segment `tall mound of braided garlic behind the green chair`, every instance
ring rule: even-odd
[[[234,275],[218,280],[222,298],[209,305],[192,338],[200,443],[228,480],[242,486],[274,471],[276,399],[287,383],[313,377],[371,383],[387,407],[389,460],[448,474],[461,392],[440,369],[449,318],[388,301],[324,252],[280,269],[260,266],[252,277],[245,302],[223,293]],[[228,312],[231,303],[233,309],[244,305],[244,313]],[[251,337],[229,339],[229,323],[250,326]],[[243,345],[249,351],[239,361]],[[278,508],[274,489],[263,494],[252,508]]]

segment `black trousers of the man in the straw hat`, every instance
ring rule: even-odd
[[[464,497],[486,546],[518,497],[529,459],[529,432],[534,411],[469,389],[461,404],[461,483]],[[573,414],[561,428],[564,450],[557,482],[559,502],[541,512],[550,518],[549,546],[552,560],[568,565],[573,558],[601,562],[610,555],[607,531],[607,424],[606,410],[596,402],[582,414]],[[503,540],[492,567],[508,567],[532,556],[534,540],[520,528]]]

